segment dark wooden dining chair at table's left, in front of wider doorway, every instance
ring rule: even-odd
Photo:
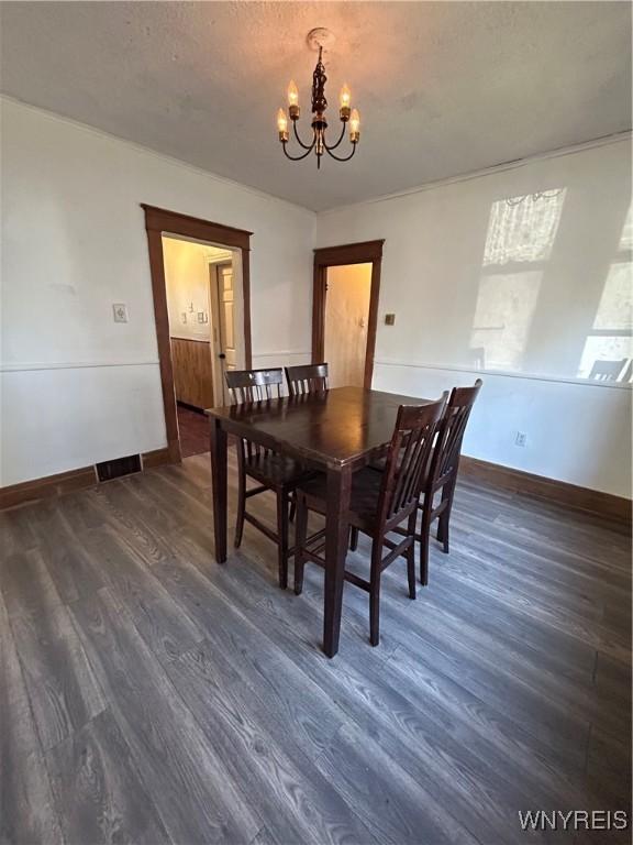
[[[281,396],[284,371],[274,370],[231,370],[225,373],[231,398],[234,404],[266,402]],[[246,479],[258,482],[258,486],[247,489]],[[297,461],[278,454],[270,449],[241,438],[237,443],[237,519],[235,524],[235,548],[242,544],[244,523],[249,523],[273,542],[277,544],[279,586],[288,585],[289,551],[289,506],[290,497],[299,481],[307,478],[307,472]],[[259,493],[273,491],[277,497],[277,530],[271,530],[246,511],[246,500]]]

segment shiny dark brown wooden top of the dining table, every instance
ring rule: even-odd
[[[279,445],[299,458],[345,467],[391,440],[400,405],[433,399],[400,396],[363,387],[333,387],[324,393],[210,408],[223,428],[265,446]]]

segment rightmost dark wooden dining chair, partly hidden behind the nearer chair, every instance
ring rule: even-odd
[[[420,541],[420,581],[425,586],[429,584],[429,544],[431,524],[434,519],[438,519],[437,540],[442,544],[444,552],[448,553],[448,526],[462,456],[462,442],[481,385],[481,378],[477,378],[473,387],[453,387],[437,428],[433,458],[424,480],[419,504],[422,511],[422,528],[417,535],[417,539]],[[435,505],[435,497],[440,491],[442,492],[441,500]]]

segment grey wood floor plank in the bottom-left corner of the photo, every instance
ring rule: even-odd
[[[0,842],[64,842],[9,615],[0,595]]]

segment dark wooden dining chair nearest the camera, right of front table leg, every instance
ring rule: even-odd
[[[380,628],[380,575],[397,558],[407,559],[409,596],[415,599],[415,519],[420,487],[427,471],[435,431],[448,393],[426,405],[401,405],[389,443],[385,471],[365,467],[352,475],[348,522],[371,538],[369,580],[345,571],[345,581],[369,593],[369,641],[377,646]],[[310,511],[326,513],[326,476],[320,473],[297,487],[297,540],[295,546],[295,593],[303,589],[306,562],[325,566],[322,557],[325,531],[308,537]],[[402,523],[404,538],[395,542],[387,535]],[[384,549],[387,555],[384,557]]]

